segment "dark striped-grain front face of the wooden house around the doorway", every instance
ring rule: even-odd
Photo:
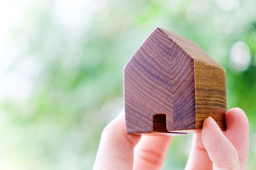
[[[124,69],[127,132],[152,132],[159,113],[167,131],[194,129],[194,74],[193,59],[164,32],[152,32]]]

